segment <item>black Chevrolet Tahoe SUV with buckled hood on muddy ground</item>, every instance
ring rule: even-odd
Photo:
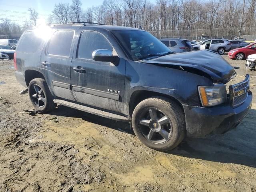
[[[69,106],[132,122],[150,148],[170,150],[185,136],[235,127],[252,102],[249,76],[209,50],[174,54],[150,33],[128,27],[62,24],[22,34],[16,79],[34,108]]]

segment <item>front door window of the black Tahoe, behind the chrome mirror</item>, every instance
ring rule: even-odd
[[[92,59],[96,49],[108,49],[113,52],[112,45],[99,32],[83,31],[78,44],[77,58]]]

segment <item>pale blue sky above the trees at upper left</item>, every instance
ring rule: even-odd
[[[35,9],[39,13],[39,18],[47,21],[49,14],[57,3],[72,4],[72,0],[0,0],[0,18],[8,18],[19,24],[29,20],[28,8]],[[82,8],[98,6],[103,0],[81,0]]]

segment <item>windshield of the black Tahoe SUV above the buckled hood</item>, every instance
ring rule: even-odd
[[[172,53],[165,44],[146,31],[116,30],[111,33],[134,61]]]

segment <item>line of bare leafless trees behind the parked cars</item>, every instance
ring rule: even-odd
[[[32,9],[29,12],[31,22],[20,26],[20,30],[37,24],[38,13]],[[6,20],[2,19],[1,32]],[[156,0],[154,3],[150,0],[104,0],[101,5],[86,9],[82,8],[80,0],[72,0],[70,4],[55,4],[47,22],[97,22],[160,31],[242,29],[256,27],[255,21],[256,0]]]

